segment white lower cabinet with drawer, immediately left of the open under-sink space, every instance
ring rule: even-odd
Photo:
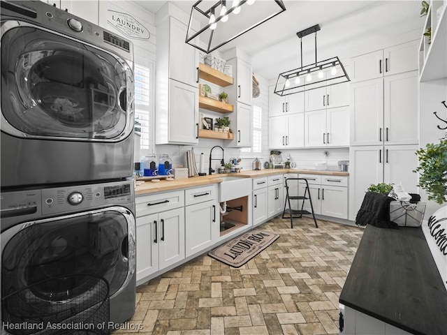
[[[220,211],[217,185],[193,188],[185,193],[185,246],[186,257],[189,257],[217,242]],[[188,206],[189,199],[192,204]]]

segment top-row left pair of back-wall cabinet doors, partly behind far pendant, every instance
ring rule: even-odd
[[[279,96],[274,94],[274,85],[269,87],[269,117],[285,114],[301,113],[305,111],[304,92]]]

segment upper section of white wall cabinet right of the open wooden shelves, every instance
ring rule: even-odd
[[[239,57],[228,59],[226,64],[233,66],[234,84],[228,87],[228,100],[230,104],[244,103],[251,105],[251,97],[253,94],[253,73],[251,71],[251,65]]]

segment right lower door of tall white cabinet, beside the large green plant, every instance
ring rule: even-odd
[[[418,174],[413,172],[418,166],[417,145],[386,145],[384,148],[383,181],[400,184],[408,193],[418,193]]]

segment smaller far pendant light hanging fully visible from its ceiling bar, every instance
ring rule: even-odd
[[[320,30],[319,24],[298,31],[296,35],[300,38],[301,66],[293,70],[279,73],[274,93],[279,96],[288,96],[311,89],[318,89],[342,82],[349,82],[349,75],[338,57],[332,57],[324,61],[318,61],[316,57],[316,32]],[[315,63],[307,66],[302,65],[302,38],[315,34]]]

